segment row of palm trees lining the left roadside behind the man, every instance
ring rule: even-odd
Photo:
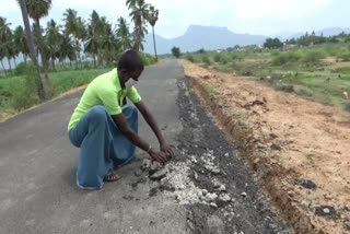
[[[0,16],[0,61],[7,72],[2,61],[7,58],[11,72],[11,60],[16,66],[20,54],[23,55],[25,63],[30,58],[37,70],[36,86],[40,101],[46,98],[40,72],[44,72],[48,92],[51,92],[48,70],[56,70],[57,62],[63,67],[73,63],[77,68],[83,67],[89,60],[93,61],[94,67],[112,65],[128,49],[143,50],[148,24],[152,26],[154,40],[154,26],[159,20],[159,10],[144,0],[127,0],[133,31],[130,31],[127,20],[122,16],[113,24],[94,10],[85,20],[73,9],[67,9],[63,13],[63,25],[50,20],[44,28],[40,19],[49,14],[51,0],[16,1],[21,8],[24,27],[19,25],[11,30],[11,23]],[[32,25],[30,17],[33,20]],[[155,40],[154,51],[156,57]]]

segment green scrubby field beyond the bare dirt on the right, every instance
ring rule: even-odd
[[[350,110],[350,102],[342,97],[343,90],[350,93],[349,43],[285,50],[198,51],[183,58],[207,68],[253,77],[277,90]]]

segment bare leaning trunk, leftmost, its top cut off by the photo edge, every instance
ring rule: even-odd
[[[32,37],[31,25],[30,25],[28,13],[26,10],[25,0],[19,0],[19,2],[20,2],[23,23],[24,23],[24,27],[25,27],[26,43],[30,48],[32,61],[34,62],[36,70],[37,70],[37,78],[35,81],[37,95],[39,97],[39,101],[44,102],[45,101],[45,91],[44,91],[44,86],[43,86],[43,82],[42,82],[42,78],[40,78],[39,65],[37,63],[35,51],[34,51],[34,43],[33,43],[33,37]]]

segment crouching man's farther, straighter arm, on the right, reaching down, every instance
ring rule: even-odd
[[[144,103],[142,101],[140,101],[140,102],[136,103],[135,106],[139,109],[141,115],[143,116],[144,120],[151,127],[152,131],[156,136],[156,138],[158,138],[158,140],[160,142],[161,150],[164,153],[166,153],[166,154],[168,154],[171,156],[174,156],[174,151],[172,150],[172,145],[167,144],[165,138],[163,137],[160,128],[156,125],[155,119],[153,118],[153,115],[149,112],[149,109],[147,108]]]

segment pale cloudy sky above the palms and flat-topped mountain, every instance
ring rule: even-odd
[[[160,10],[156,34],[172,38],[185,33],[190,24],[225,26],[235,33],[275,35],[287,32],[350,27],[349,0],[145,0]],[[128,16],[125,0],[52,0],[49,19],[61,22],[72,8],[88,19],[92,10],[115,23]],[[15,0],[0,0],[0,16],[12,26],[22,24]]]

